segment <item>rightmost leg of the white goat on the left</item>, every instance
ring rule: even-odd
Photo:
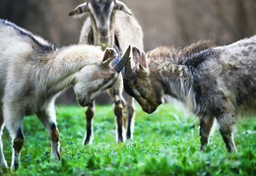
[[[60,137],[59,130],[56,124],[55,108],[49,107],[46,110],[41,110],[36,113],[37,118],[40,120],[44,128],[48,131],[51,139],[51,157],[58,161],[60,160]]]

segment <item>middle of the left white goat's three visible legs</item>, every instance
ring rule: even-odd
[[[13,142],[11,169],[18,169],[20,163],[20,155],[24,146],[23,121],[24,115],[22,110],[18,111],[14,103],[4,102],[4,122],[10,133]]]

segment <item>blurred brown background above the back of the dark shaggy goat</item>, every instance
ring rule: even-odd
[[[227,44],[255,34],[255,0],[124,0],[145,31],[146,50],[199,39]]]

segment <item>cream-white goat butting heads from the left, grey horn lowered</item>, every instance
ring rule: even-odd
[[[5,125],[13,141],[11,168],[19,167],[24,145],[23,121],[32,114],[36,114],[48,131],[51,156],[60,159],[55,98],[65,88],[73,86],[79,104],[88,105],[97,94],[113,86],[127,62],[127,54],[118,62],[119,56],[109,48],[104,52],[90,45],[57,48],[3,20],[0,20],[0,38],[0,136]],[[0,165],[8,167],[2,140]]]

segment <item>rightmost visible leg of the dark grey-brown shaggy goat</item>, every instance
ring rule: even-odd
[[[224,139],[225,147],[228,151],[237,151],[233,141],[233,128],[236,122],[236,118],[231,114],[223,114],[217,117],[220,125],[220,132]]]

